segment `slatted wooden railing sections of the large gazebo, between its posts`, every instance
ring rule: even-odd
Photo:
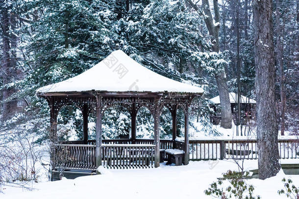
[[[151,139],[102,140],[102,166],[107,168],[149,168],[153,166],[154,145]],[[96,169],[96,141],[66,141],[56,144],[53,169]],[[161,149],[173,148],[172,140],[160,140]],[[164,159],[166,155],[164,154]]]

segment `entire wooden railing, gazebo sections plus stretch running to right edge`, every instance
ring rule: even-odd
[[[103,140],[102,165],[107,168],[152,168],[154,144],[151,139]],[[56,144],[55,165],[53,169],[96,169],[95,141],[60,142]],[[257,159],[256,140],[189,140],[190,160],[216,159]],[[160,149],[177,148],[184,150],[184,143],[160,140]],[[298,139],[279,139],[279,157],[299,158]],[[166,160],[164,154],[164,160]]]

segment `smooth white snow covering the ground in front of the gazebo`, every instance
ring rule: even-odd
[[[281,163],[299,162],[282,160]],[[245,168],[256,169],[256,160],[246,160]],[[217,177],[227,170],[237,170],[232,161],[190,162],[187,166],[165,166],[157,169],[105,170],[102,175],[78,177],[75,180],[63,179],[55,182],[33,183],[33,191],[3,187],[1,199],[83,199],[83,198],[122,198],[122,199],[161,199],[212,198],[204,195]],[[247,182],[255,187],[255,195],[263,199],[286,198],[277,190],[283,188],[281,179],[291,178],[299,185],[299,175],[285,175],[280,171],[275,177]]]

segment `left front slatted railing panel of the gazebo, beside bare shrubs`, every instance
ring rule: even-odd
[[[96,147],[87,144],[56,144],[53,169],[96,169]]]

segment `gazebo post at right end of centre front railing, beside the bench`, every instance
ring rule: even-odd
[[[154,144],[155,144],[155,168],[160,167],[160,108],[159,103],[155,102],[154,109]]]

